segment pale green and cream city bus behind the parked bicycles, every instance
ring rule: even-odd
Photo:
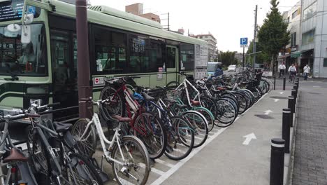
[[[23,9],[33,15],[29,43],[12,27],[22,25]],[[168,32],[159,22],[107,6],[88,7],[87,19],[94,99],[99,99],[104,76],[137,75],[138,85],[154,87],[180,80],[178,71],[196,78],[206,73],[205,41]],[[75,25],[72,4],[0,1],[0,114],[41,100],[61,102],[53,115],[57,120],[78,116],[77,78],[82,74],[77,74]]]

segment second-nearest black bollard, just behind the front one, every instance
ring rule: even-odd
[[[290,137],[290,121],[291,121],[291,109],[283,109],[283,121],[282,121],[282,138],[285,140],[285,153],[289,153],[289,137]]]

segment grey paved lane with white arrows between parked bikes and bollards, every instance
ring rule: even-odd
[[[268,184],[270,139],[282,135],[282,108],[287,105],[285,97],[290,95],[289,91],[280,93],[278,90],[263,97],[231,127],[212,130],[205,145],[184,160],[166,156],[156,160],[147,184]],[[273,112],[265,115],[267,110]],[[256,139],[243,144],[244,136],[252,132]],[[110,172],[111,166],[105,164]]]

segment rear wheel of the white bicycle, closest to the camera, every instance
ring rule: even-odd
[[[150,158],[143,142],[124,136],[112,149],[112,172],[118,184],[145,184],[150,174]]]

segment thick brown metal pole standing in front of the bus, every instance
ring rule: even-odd
[[[92,97],[89,72],[89,35],[87,32],[87,1],[76,0],[76,32],[78,41],[78,101],[80,118],[91,118],[92,104],[82,98]]]

